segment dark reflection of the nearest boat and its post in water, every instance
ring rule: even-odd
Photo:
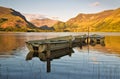
[[[61,50],[54,50],[51,52],[29,52],[26,56],[26,60],[31,60],[33,57],[38,57],[41,61],[47,62],[47,72],[51,72],[51,61],[54,59],[60,59],[63,56],[69,55],[71,56],[73,50],[70,48],[64,48]]]

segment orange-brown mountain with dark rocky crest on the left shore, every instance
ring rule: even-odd
[[[18,11],[0,6],[0,30],[26,30],[35,26]]]

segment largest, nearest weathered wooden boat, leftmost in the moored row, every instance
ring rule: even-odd
[[[52,50],[63,49],[66,47],[71,48],[72,40],[73,37],[70,35],[45,40],[28,41],[26,42],[26,45],[31,52],[44,52],[44,51],[49,52]]]

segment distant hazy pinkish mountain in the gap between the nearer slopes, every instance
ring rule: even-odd
[[[52,27],[55,23],[57,23],[57,20],[52,20],[49,18],[44,18],[44,19],[34,19],[30,21],[31,23],[33,23],[35,26],[37,27],[41,27],[44,25],[47,25],[48,27]]]

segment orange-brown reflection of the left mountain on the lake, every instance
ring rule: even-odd
[[[12,51],[25,46],[25,39],[19,34],[3,34],[0,35],[0,55],[11,55]]]

